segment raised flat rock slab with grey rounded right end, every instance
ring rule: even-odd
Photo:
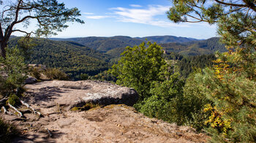
[[[36,93],[25,99],[27,102],[46,107],[59,104],[66,107],[67,110],[73,107],[82,107],[89,102],[100,105],[126,104],[132,106],[138,101],[138,93],[132,88],[92,80],[76,82],[53,80],[26,85],[26,88]]]

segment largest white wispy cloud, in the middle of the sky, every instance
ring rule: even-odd
[[[124,8],[114,7],[113,10],[115,15],[118,15],[118,21],[125,23],[143,23],[152,26],[170,27],[170,26],[185,26],[171,23],[170,20],[157,20],[156,17],[159,15],[166,15],[165,12],[170,9],[170,6],[162,5],[149,5],[146,9],[143,8]]]

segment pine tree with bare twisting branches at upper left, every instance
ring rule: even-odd
[[[84,23],[76,18],[80,16],[77,8],[68,9],[57,0],[11,0],[0,1],[0,4],[3,7],[0,12],[0,49],[4,58],[7,42],[13,32],[21,32],[26,36],[49,36],[67,28],[67,22]],[[20,24],[28,27],[32,20],[37,22],[34,31],[15,28]]]

